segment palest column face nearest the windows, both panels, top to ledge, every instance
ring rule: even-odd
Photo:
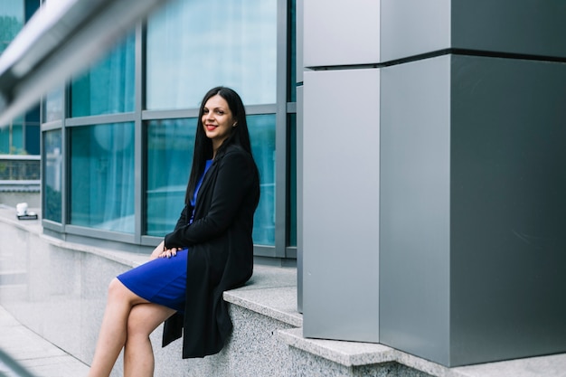
[[[379,2],[309,0],[304,20],[304,335],[377,342]]]

